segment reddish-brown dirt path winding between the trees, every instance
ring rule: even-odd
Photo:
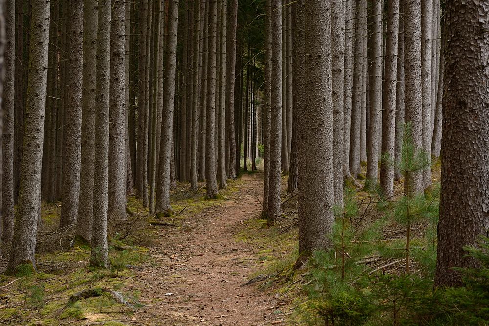
[[[254,250],[236,242],[243,222],[257,217],[263,182],[257,175],[233,198],[185,220],[183,227],[161,228],[150,255],[137,272],[133,290],[145,307],[133,325],[271,325],[269,309],[278,303],[254,285],[241,286],[260,268]],[[274,324],[275,324],[274,323]]]

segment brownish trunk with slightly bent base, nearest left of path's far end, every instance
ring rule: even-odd
[[[227,175],[230,179],[236,179],[236,142],[234,139],[234,101],[236,83],[236,26],[238,20],[238,0],[231,0],[229,9],[229,19],[227,21],[227,46],[226,46],[226,143],[229,146],[229,161],[227,165]]]

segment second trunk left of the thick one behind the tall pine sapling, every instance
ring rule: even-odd
[[[385,73],[382,96],[382,155],[393,159],[396,129],[396,73],[399,35],[399,0],[390,0],[387,9],[387,33],[385,45]],[[380,165],[380,187],[386,198],[394,195],[394,166],[382,160]]]

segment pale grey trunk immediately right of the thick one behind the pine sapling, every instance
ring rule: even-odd
[[[433,0],[421,0],[421,85],[423,149],[431,152],[431,47]],[[422,171],[424,189],[431,186],[431,168]]]

